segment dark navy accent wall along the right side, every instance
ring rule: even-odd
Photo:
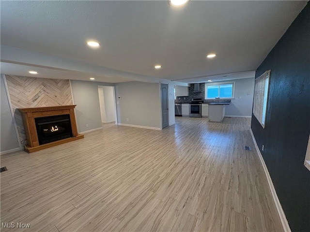
[[[292,231],[310,231],[310,2],[256,71],[271,69],[265,129],[251,129]]]

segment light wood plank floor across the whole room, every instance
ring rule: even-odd
[[[249,118],[176,117],[162,131],[107,125],[3,155],[1,222],[31,232],[282,231],[249,128]]]

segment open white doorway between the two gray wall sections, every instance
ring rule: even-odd
[[[98,86],[101,123],[117,124],[114,86]]]

